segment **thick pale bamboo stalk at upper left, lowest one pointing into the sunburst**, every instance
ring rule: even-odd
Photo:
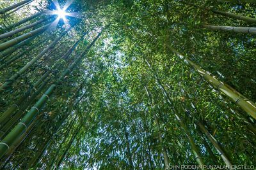
[[[32,36],[35,36],[36,34],[38,34],[39,32],[45,31],[47,29],[47,27],[49,27],[49,25],[51,24],[46,24],[42,27],[39,27],[38,29],[35,29],[33,31],[30,31],[26,34],[23,34],[22,36],[18,36],[17,38],[13,38],[9,41],[6,41],[5,43],[2,43],[0,45],[0,52],[2,52],[3,50],[5,50],[6,48],[9,48],[13,45],[16,45],[17,43],[20,43],[21,41],[31,38]]]

